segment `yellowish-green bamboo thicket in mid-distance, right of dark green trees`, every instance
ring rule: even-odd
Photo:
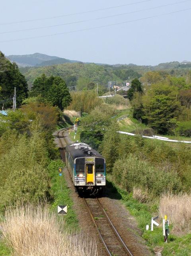
[[[77,91],[71,93],[72,102],[68,106],[70,110],[90,113],[97,105],[102,103],[100,98],[97,98],[94,91]]]

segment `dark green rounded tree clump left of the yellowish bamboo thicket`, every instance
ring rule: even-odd
[[[58,106],[61,110],[70,104],[71,97],[65,81],[61,77],[49,77],[45,74],[37,77],[33,82],[30,95],[42,99],[47,99],[53,106]]]

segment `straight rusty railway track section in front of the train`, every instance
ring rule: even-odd
[[[99,238],[109,256],[133,256],[113,226],[98,198],[84,198]]]

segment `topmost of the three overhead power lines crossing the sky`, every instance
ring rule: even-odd
[[[91,12],[109,10],[109,9],[114,9],[114,8],[134,5],[134,4],[140,4],[140,3],[144,3],[144,2],[150,2],[150,1],[152,1],[152,0],[144,0],[144,1],[134,2],[134,3],[130,3],[130,4],[123,4],[123,5],[111,6],[111,7],[106,7],[106,8],[96,9],[96,10],[90,10],[90,11],[86,11],[86,12],[76,12],[76,13],[71,13],[71,14],[63,14],[63,15],[60,15],[60,16],[52,16],[52,17],[39,18],[39,19],[34,19],[34,20],[21,20],[21,21],[16,21],[16,22],[7,22],[7,23],[1,23],[0,25],[10,25],[10,24],[32,22],[32,21],[39,21],[39,20],[50,20],[50,19],[62,18],[62,17],[66,17],[66,16],[74,16],[74,15],[78,15],[78,14],[86,14],[86,13],[91,13]]]

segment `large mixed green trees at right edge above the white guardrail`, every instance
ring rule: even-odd
[[[129,98],[133,117],[158,133],[188,136],[191,133],[188,127],[191,121],[191,71],[187,78],[148,72],[141,81],[142,88],[134,89]]]

